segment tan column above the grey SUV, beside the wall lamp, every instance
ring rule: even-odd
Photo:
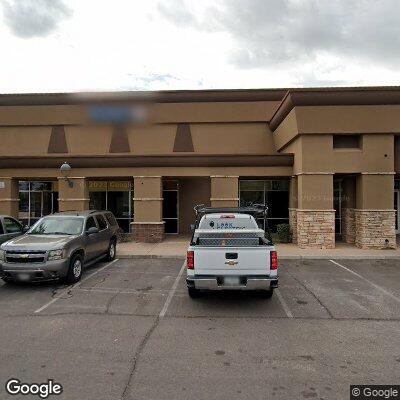
[[[58,178],[58,206],[60,211],[84,211],[89,209],[88,181],[83,177]]]

